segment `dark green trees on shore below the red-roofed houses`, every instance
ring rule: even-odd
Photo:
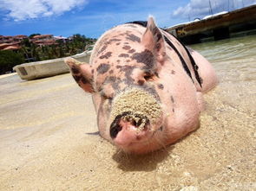
[[[56,40],[55,44],[39,46],[31,42],[30,39],[23,39],[21,47],[18,50],[1,50],[0,51],[0,74],[12,72],[12,67],[16,65],[40,60],[50,60],[62,58],[74,54],[80,54],[89,50],[95,43],[96,39],[87,38],[84,35],[76,34],[70,41]]]

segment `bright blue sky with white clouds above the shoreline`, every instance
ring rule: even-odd
[[[159,27],[235,10],[256,0],[0,0],[0,35],[99,37],[115,25],[154,16]]]

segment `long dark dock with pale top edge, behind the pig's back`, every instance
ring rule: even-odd
[[[187,45],[240,35],[253,35],[253,32],[246,31],[256,29],[255,12],[256,4],[253,4],[239,10],[206,16],[201,20],[184,22],[166,30]]]

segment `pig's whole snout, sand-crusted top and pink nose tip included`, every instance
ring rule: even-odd
[[[113,99],[109,118],[109,134],[122,148],[148,142],[162,121],[161,105],[154,95],[132,87]]]

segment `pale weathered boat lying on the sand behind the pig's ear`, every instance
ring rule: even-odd
[[[75,54],[70,57],[89,63],[90,54],[91,51]],[[64,62],[65,58],[24,63],[13,67],[13,69],[22,80],[34,80],[69,73],[69,67]]]

